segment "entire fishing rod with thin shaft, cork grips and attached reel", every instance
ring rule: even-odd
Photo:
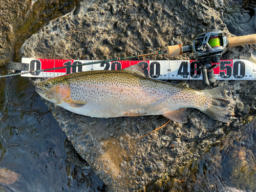
[[[63,66],[63,67],[44,69],[44,70],[34,70],[34,71],[20,70],[22,71],[21,73],[3,75],[3,76],[0,76],[0,78],[14,76],[14,75],[23,75],[28,73],[39,73],[39,72],[50,71],[50,70],[65,69],[70,67],[93,65],[96,63],[103,63],[103,62],[134,59],[138,57],[159,55],[159,54],[165,54],[165,53],[167,54],[167,57],[179,56],[184,53],[194,53],[195,59],[199,62],[199,65],[194,70],[202,71],[203,84],[207,86],[210,83],[216,82],[214,71],[212,69],[219,66],[217,64],[220,62],[220,58],[222,54],[227,50],[227,48],[237,47],[242,45],[250,45],[250,44],[256,44],[256,34],[238,36],[238,37],[226,37],[223,31],[210,30],[210,31],[203,32],[199,35],[196,35],[193,39],[192,45],[167,46],[166,51],[160,51],[160,52],[148,53],[148,54],[142,54],[142,55],[134,55],[129,57],[109,59],[109,60],[93,61],[88,63],[79,63],[77,65]],[[7,63],[7,64],[13,65],[12,63],[14,62]],[[10,69],[13,69],[13,67],[11,67]]]

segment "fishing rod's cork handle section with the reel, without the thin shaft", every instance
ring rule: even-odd
[[[194,69],[202,71],[203,84],[208,86],[215,83],[214,68],[218,67],[221,56],[227,48],[238,47],[242,45],[256,44],[256,34],[226,37],[223,31],[210,30],[193,39],[192,48],[190,45],[167,46],[167,57],[178,56],[183,53],[194,53],[199,66]],[[192,51],[191,51],[192,50]]]

